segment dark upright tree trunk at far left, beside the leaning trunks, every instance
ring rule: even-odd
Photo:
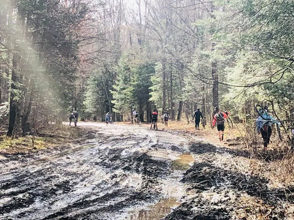
[[[18,63],[18,52],[15,50],[13,52],[12,60],[12,72],[11,72],[11,93],[10,93],[10,109],[9,109],[9,126],[7,131],[7,136],[11,137],[13,133],[14,123],[17,116],[17,97],[15,91],[18,89],[17,83],[19,81],[17,73],[17,63]]]

